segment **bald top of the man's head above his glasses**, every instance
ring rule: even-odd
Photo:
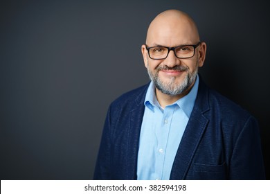
[[[199,33],[195,22],[179,10],[166,10],[151,22],[146,37],[148,46],[197,44]]]

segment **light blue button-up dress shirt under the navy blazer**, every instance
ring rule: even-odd
[[[199,76],[190,92],[163,109],[151,82],[145,96],[145,112],[138,149],[138,179],[170,179],[174,157],[195,104]]]

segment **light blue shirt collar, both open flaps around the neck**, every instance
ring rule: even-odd
[[[199,76],[196,77],[195,84],[193,85],[190,92],[186,96],[183,96],[183,98],[180,98],[179,100],[177,100],[175,103],[172,104],[172,105],[178,105],[186,114],[186,116],[188,116],[188,118],[190,118],[190,114],[195,105],[198,88],[199,88]],[[154,82],[150,82],[150,85],[146,92],[144,104],[145,104],[145,107],[152,110],[152,112],[154,112],[155,107],[162,109],[161,106],[159,105],[158,100],[156,100],[155,91],[156,91],[156,87],[154,86]]]

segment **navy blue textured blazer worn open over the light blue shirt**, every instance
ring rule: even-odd
[[[111,103],[93,179],[137,179],[147,88],[129,91]],[[170,179],[265,179],[257,121],[201,78]]]

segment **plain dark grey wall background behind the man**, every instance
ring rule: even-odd
[[[260,122],[269,179],[267,1],[1,1],[1,179],[92,179],[112,100],[148,82],[141,44],[176,8],[207,45],[205,82]],[[268,146],[268,147],[267,147]]]

